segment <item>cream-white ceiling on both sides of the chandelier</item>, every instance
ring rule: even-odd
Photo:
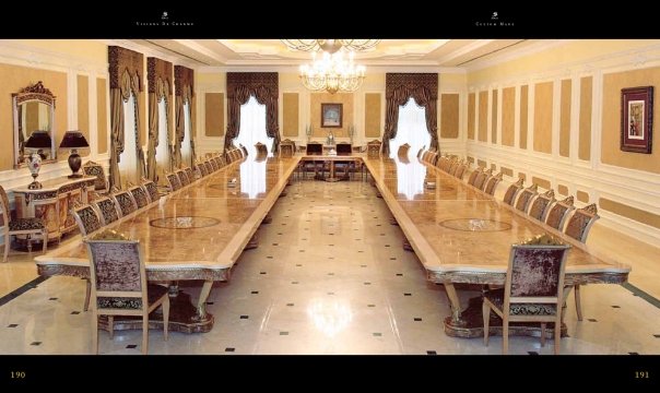
[[[199,66],[299,66],[308,52],[287,48],[279,39],[132,39],[154,51]],[[471,67],[515,53],[537,39],[382,39],[375,48],[356,52],[367,66]]]

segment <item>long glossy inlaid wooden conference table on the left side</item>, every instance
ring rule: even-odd
[[[213,315],[205,308],[213,283],[229,279],[232,266],[284,191],[299,159],[248,157],[99,229],[111,228],[140,240],[149,281],[203,281],[197,306],[189,295],[175,291],[170,330],[198,333],[213,327]],[[39,275],[90,276],[82,237],[35,261]],[[150,326],[160,323],[152,320]],[[115,329],[140,329],[140,320],[116,320]]]

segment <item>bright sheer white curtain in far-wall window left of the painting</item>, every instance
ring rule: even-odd
[[[247,103],[240,106],[240,130],[238,136],[234,139],[236,147],[243,144],[248,150],[248,157],[257,155],[255,143],[261,142],[268,148],[269,155],[272,153],[273,138],[266,134],[266,105],[257,102],[255,96],[250,96]]]

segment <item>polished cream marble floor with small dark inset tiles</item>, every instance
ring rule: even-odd
[[[150,354],[500,354],[500,337],[485,347],[480,338],[445,335],[444,288],[428,283],[414,253],[402,249],[402,233],[372,186],[309,180],[287,190],[272,223],[259,229],[259,248],[243,253],[228,283],[214,286],[208,306],[213,330],[170,333],[168,342],[152,330]],[[653,272],[650,259],[643,269]],[[10,261],[0,264],[0,353],[92,354],[84,282],[33,282],[28,257],[12,251]],[[636,290],[646,281],[638,285],[633,277],[627,288],[584,287],[582,322],[569,297],[562,354],[660,354],[660,305]],[[193,298],[199,287],[181,286]],[[657,294],[652,284],[648,288]],[[476,295],[462,291],[463,303]],[[102,332],[99,350],[138,355],[140,342],[140,331],[117,332],[113,341]],[[553,345],[512,337],[509,353],[546,355]]]

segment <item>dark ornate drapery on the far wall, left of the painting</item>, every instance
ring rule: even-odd
[[[276,72],[227,72],[227,132],[225,150],[240,130],[240,106],[250,96],[266,105],[266,134],[273,138],[273,153],[280,148],[280,127],[278,124],[279,76]]]

